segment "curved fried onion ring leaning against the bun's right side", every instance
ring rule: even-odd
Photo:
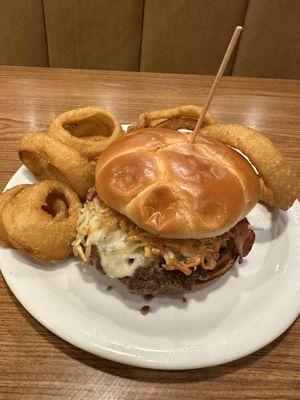
[[[249,158],[261,177],[261,202],[287,210],[299,199],[299,178],[280,151],[261,133],[243,125],[214,124],[201,129],[201,135],[239,149]]]

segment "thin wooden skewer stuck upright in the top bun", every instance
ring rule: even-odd
[[[229,45],[227,47],[226,53],[225,53],[225,55],[223,57],[223,60],[221,62],[219,71],[218,71],[218,73],[217,73],[217,75],[216,75],[216,77],[214,79],[212,87],[210,88],[210,92],[209,92],[209,95],[208,95],[208,97],[206,99],[206,103],[205,103],[205,105],[203,107],[203,110],[202,110],[202,112],[201,112],[201,114],[200,114],[200,116],[198,118],[197,124],[195,126],[195,129],[194,129],[194,132],[193,132],[193,135],[192,135],[191,143],[195,143],[196,136],[197,136],[197,134],[199,132],[199,129],[200,129],[201,125],[202,125],[202,122],[204,121],[205,114],[206,114],[206,112],[208,110],[208,107],[210,105],[212,97],[213,97],[213,95],[214,95],[214,93],[216,91],[217,84],[218,84],[219,80],[222,78],[222,75],[224,73],[226,65],[227,65],[227,63],[229,61],[229,58],[231,56],[231,53],[232,53],[233,49],[235,48],[236,42],[238,41],[238,38],[240,36],[240,33],[241,33],[242,29],[243,29],[242,26],[237,26],[235,28],[235,31],[234,31],[234,33],[232,35],[230,43],[229,43]]]

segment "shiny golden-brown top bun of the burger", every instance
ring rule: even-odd
[[[254,207],[260,186],[235,150],[198,135],[162,128],[127,134],[96,166],[96,190],[113,209],[161,237],[223,234]]]

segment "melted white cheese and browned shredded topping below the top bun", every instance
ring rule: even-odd
[[[80,210],[73,253],[88,262],[92,246],[97,246],[101,266],[113,278],[132,276],[138,267],[154,259],[163,261],[167,270],[180,270],[186,275],[201,265],[214,269],[219,248],[230,232],[210,239],[171,240],[153,236],[110,208],[104,208],[96,197]]]

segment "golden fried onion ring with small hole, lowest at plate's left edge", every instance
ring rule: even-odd
[[[47,211],[49,196],[55,195],[67,206],[67,215],[55,218]],[[9,242],[17,249],[42,261],[57,261],[72,252],[80,200],[68,186],[45,180],[16,194],[2,213]]]

